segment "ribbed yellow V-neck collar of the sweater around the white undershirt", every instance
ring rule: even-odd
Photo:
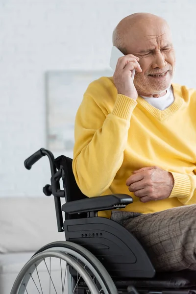
[[[176,84],[172,84],[174,101],[166,109],[160,110],[151,104],[149,104],[144,98],[138,96],[137,102],[147,109],[153,116],[155,116],[160,121],[164,121],[169,118],[176,110],[180,108],[183,102],[181,89]],[[157,98],[158,99],[158,98]]]

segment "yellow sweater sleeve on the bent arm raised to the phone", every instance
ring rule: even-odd
[[[112,112],[104,114],[94,98],[84,96],[75,118],[73,173],[86,196],[101,195],[120,169],[136,105],[118,94]]]

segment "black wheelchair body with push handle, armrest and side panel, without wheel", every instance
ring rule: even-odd
[[[160,273],[155,276],[155,269],[139,241],[119,223],[97,216],[101,210],[124,208],[132,203],[130,196],[114,194],[88,198],[75,182],[72,159],[64,155],[54,159],[53,154],[44,148],[25,160],[26,169],[31,169],[45,155],[49,157],[51,184],[46,185],[43,192],[46,196],[54,196],[58,231],[65,231],[66,241],[82,245],[92,252],[120,291],[128,287],[128,293],[137,293],[134,292],[135,286],[139,293],[196,293],[196,283],[193,282],[195,272]],[[61,178],[64,190],[60,189]],[[61,197],[66,199],[62,207]],[[62,211],[65,212],[64,223]],[[189,279],[190,276],[192,279]]]

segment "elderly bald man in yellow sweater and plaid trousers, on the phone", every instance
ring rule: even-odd
[[[171,84],[175,53],[163,19],[130,15],[113,44],[125,56],[113,77],[89,85],[76,115],[76,182],[89,197],[133,197],[99,216],[135,235],[156,270],[196,270],[196,91]]]

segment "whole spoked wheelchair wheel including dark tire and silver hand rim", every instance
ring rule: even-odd
[[[68,294],[83,294],[83,293],[118,294],[118,291],[116,289],[116,286],[113,280],[111,279],[107,270],[105,270],[103,265],[98,261],[98,259],[84,247],[74,244],[72,242],[66,242],[66,241],[53,242],[39,249],[32,256],[32,258],[25,264],[24,268],[21,270],[21,272],[17,276],[16,281],[12,287],[11,294],[31,294],[30,292],[27,292],[26,288],[28,286],[29,280],[32,278],[32,274],[35,273],[36,275],[36,270],[37,270],[37,267],[39,267],[39,264],[43,261],[45,262],[45,258],[49,258],[49,262],[50,262],[51,257],[59,258],[60,265],[61,265],[61,260],[66,262],[66,270],[67,270],[67,265],[70,265],[72,269],[76,270],[77,273],[79,273],[80,275],[76,283],[76,281],[71,276],[70,271],[67,270],[68,292],[66,292],[66,294],[67,293]],[[87,268],[94,275],[94,278],[92,278],[92,274],[89,274],[88,272],[89,270],[87,270]],[[50,279],[51,279],[50,265],[49,265],[49,269],[47,267],[47,270],[49,273],[49,283],[50,283]],[[65,276],[66,276],[66,270],[65,270]],[[39,278],[39,275],[38,275],[38,278]],[[33,278],[32,280],[34,282]],[[61,271],[61,280],[62,280],[62,271]],[[80,283],[78,284],[79,280],[80,280],[80,283],[83,282],[83,284],[80,284]],[[39,283],[40,283],[40,278],[39,278]],[[53,284],[53,281],[52,281],[52,284]],[[41,286],[41,283],[40,283],[40,286]],[[64,279],[64,286],[65,286],[65,279]],[[62,282],[62,292],[59,291],[58,293],[64,293],[64,286]],[[77,286],[77,289],[75,289],[76,286]],[[43,292],[42,290],[42,287],[40,291],[38,290],[37,286],[36,288],[38,291],[36,293],[45,294],[45,292]],[[53,288],[55,290],[54,284],[53,284]],[[81,290],[81,289],[84,289],[84,290]],[[101,289],[100,291],[102,292],[99,292],[99,289]],[[48,292],[46,291],[46,293],[50,293],[50,290]],[[56,290],[53,293],[58,294]]]

